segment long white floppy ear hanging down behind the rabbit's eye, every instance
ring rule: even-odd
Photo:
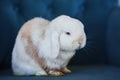
[[[59,45],[59,33],[57,31],[53,31],[51,34],[51,41],[50,41],[50,46],[51,46],[51,53],[50,53],[50,57],[51,58],[57,58],[57,56],[59,55],[59,51],[60,51],[60,45]]]

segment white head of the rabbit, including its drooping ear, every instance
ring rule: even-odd
[[[46,37],[47,55],[54,58],[59,55],[59,51],[75,51],[86,44],[84,25],[79,20],[65,15],[50,22]]]

